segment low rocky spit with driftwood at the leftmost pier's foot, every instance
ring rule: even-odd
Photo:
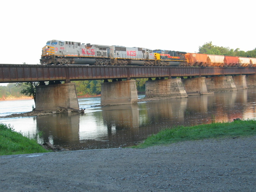
[[[70,107],[68,107],[68,108],[59,107],[56,110],[43,110],[43,111],[33,110],[33,111],[30,111],[30,112],[26,112],[26,113],[14,113],[14,114],[7,115],[7,116],[0,116],[0,118],[42,116],[42,115],[52,115],[52,114],[71,113],[71,112],[83,113],[84,114],[84,110],[85,109],[83,109],[83,108],[74,109],[74,108],[70,108]]]

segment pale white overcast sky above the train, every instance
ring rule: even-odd
[[[214,3],[213,3],[214,2]],[[38,64],[48,40],[198,52],[256,47],[251,0],[51,0],[1,3],[1,64]]]

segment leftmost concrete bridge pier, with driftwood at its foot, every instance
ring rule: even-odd
[[[56,110],[60,107],[79,109],[74,83],[36,87],[36,110]]]

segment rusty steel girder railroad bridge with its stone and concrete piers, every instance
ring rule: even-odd
[[[40,82],[36,87],[36,110],[54,110],[59,106],[79,109],[75,84],[70,83],[76,80],[104,79],[101,105],[113,105],[138,102],[135,80],[132,80],[135,78],[149,78],[146,97],[182,98],[246,89],[254,86],[255,74],[256,68],[243,67],[0,64],[0,83]],[[51,83],[45,85],[46,81]],[[59,84],[61,81],[65,83]]]

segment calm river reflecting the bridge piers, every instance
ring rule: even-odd
[[[161,129],[178,125],[256,118],[256,88],[132,105],[95,107],[100,97],[79,98],[78,102],[85,114],[0,118],[0,123],[10,124],[38,143],[50,141],[80,150],[136,145]],[[31,111],[32,105],[34,100],[0,101],[0,116]]]

